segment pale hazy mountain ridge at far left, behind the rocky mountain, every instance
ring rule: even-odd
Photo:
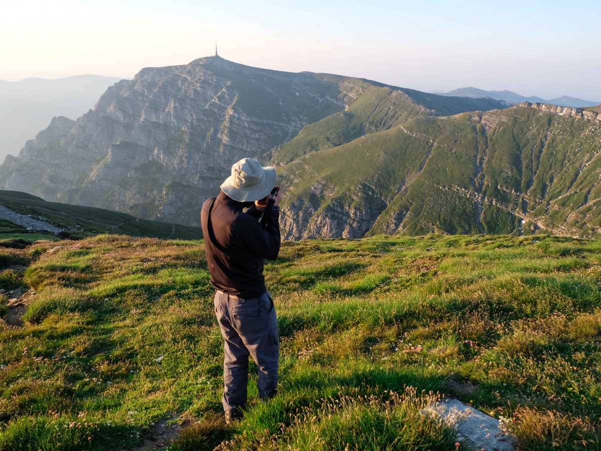
[[[76,75],[56,80],[0,80],[0,163],[17,155],[54,116],[78,118],[121,78]]]

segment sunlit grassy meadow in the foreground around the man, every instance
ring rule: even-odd
[[[229,427],[202,241],[0,248],[11,265],[27,268],[0,285],[35,294],[21,327],[0,324],[2,451],[452,451],[456,432],[419,411],[443,394],[498,417],[519,449],[601,449],[601,241],[286,242],[265,266],[279,393],[260,402],[251,376]]]

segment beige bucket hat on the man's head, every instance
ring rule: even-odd
[[[253,158],[243,158],[231,167],[231,176],[221,184],[221,189],[239,202],[263,199],[275,186],[275,168],[263,167]]]

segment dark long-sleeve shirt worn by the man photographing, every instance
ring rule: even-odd
[[[263,230],[258,222],[263,213],[254,205],[243,212],[244,203],[223,191],[213,203],[209,221],[212,201],[213,198],[207,200],[200,213],[211,284],[230,295],[256,298],[267,290],[263,259],[278,258],[279,209],[272,210]]]

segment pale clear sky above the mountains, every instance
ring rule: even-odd
[[[0,16],[0,79],[219,54],[248,66],[421,91],[473,86],[601,102],[599,0],[27,0]]]

